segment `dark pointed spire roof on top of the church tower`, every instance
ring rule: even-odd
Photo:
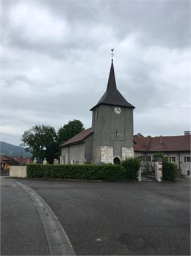
[[[98,103],[93,108],[95,108],[101,104],[120,105],[120,106],[127,107],[127,108],[134,108],[134,106],[131,105],[129,102],[127,102],[126,99],[123,97],[123,95],[120,94],[120,92],[117,89],[113,62],[112,62],[111,69],[109,72],[107,91],[101,97],[101,100],[99,100]],[[93,108],[91,108],[90,110],[93,110]]]

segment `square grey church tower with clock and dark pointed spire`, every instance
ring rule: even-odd
[[[134,106],[117,89],[113,60],[107,91],[90,110],[93,111],[92,162],[120,164],[123,159],[134,156]]]

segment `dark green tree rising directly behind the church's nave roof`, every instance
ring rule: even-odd
[[[71,139],[76,134],[79,134],[80,131],[84,130],[84,125],[79,120],[69,121],[68,124],[61,127],[58,132],[58,143],[61,145],[66,142],[68,139]]]

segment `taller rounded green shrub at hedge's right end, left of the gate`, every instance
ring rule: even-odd
[[[126,169],[126,179],[138,180],[140,160],[137,158],[125,159],[121,164]]]

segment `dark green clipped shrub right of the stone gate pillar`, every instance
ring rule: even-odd
[[[177,177],[178,169],[175,163],[162,162],[162,179],[165,181],[175,181]]]

